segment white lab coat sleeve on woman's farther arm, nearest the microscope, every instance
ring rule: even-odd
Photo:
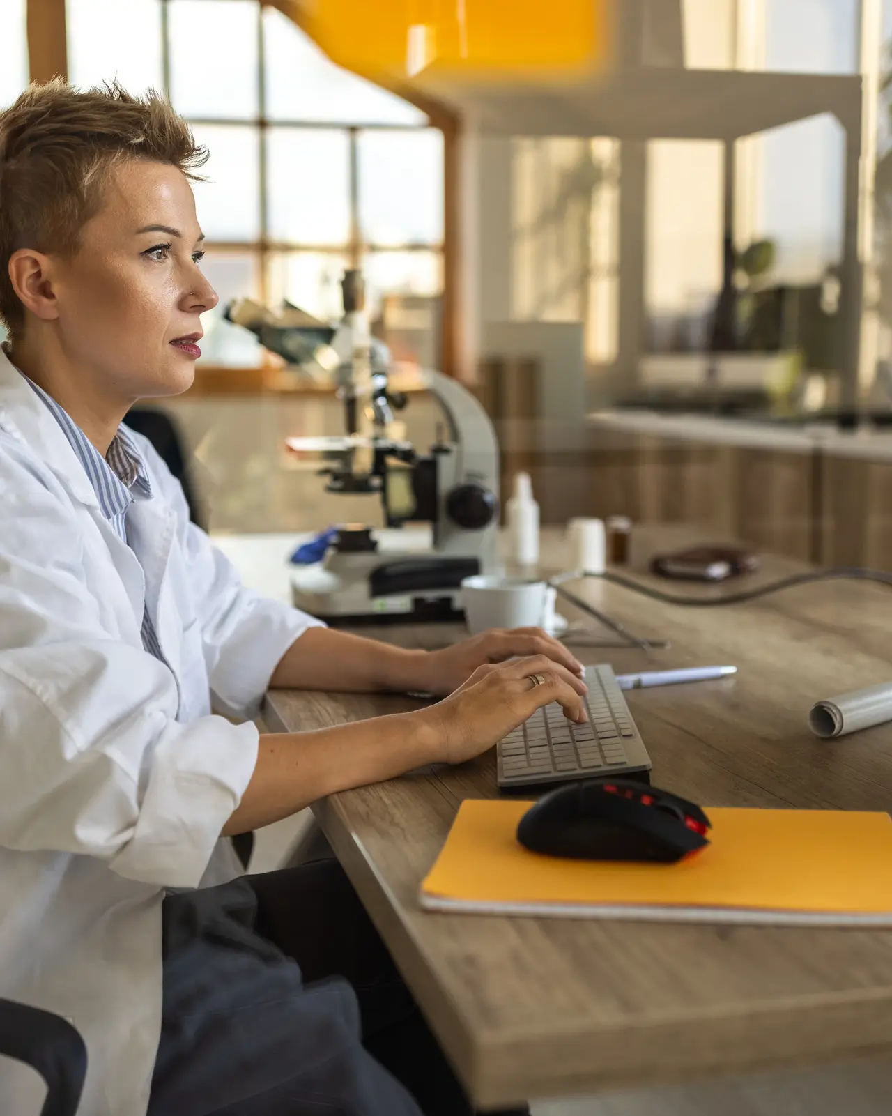
[[[161,484],[177,513],[215,705],[230,714],[254,716],[282,655],[309,628],[324,624],[248,588],[229,558],[190,522],[180,482],[147,443],[140,445],[151,462],[153,484]]]

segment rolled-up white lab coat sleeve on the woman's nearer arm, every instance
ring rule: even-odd
[[[0,446],[0,845],[196,886],[253,773],[258,731],[176,722],[171,671],[109,634],[110,590],[88,584],[86,561],[104,541],[54,482]]]

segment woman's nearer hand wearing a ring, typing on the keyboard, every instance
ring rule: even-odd
[[[539,683],[539,677],[543,681]],[[492,748],[543,705],[556,701],[578,724],[588,720],[574,671],[547,655],[478,666],[467,682],[436,705],[419,711],[434,730],[434,759],[462,763]]]

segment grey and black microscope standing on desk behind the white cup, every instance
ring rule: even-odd
[[[392,436],[394,412],[408,397],[390,386],[389,349],[370,336],[360,272],[347,271],[341,287],[345,315],[334,325],[289,304],[273,312],[248,299],[231,302],[225,317],[289,367],[317,381],[336,377],[346,434],[287,440],[294,452],[326,458],[326,491],[378,496],[388,528],[429,523],[432,546],[419,551],[400,543],[399,531],[337,526],[322,540],[324,552],[311,555],[319,560],[295,567],[293,603],[332,625],[460,618],[462,580],[501,568],[495,432],[467,388],[421,369],[417,385],[437,400],[445,422],[427,453]]]

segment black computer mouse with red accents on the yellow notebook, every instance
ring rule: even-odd
[[[694,802],[631,779],[586,779],[549,791],[521,818],[517,840],[533,853],[582,860],[673,864],[709,841]]]

